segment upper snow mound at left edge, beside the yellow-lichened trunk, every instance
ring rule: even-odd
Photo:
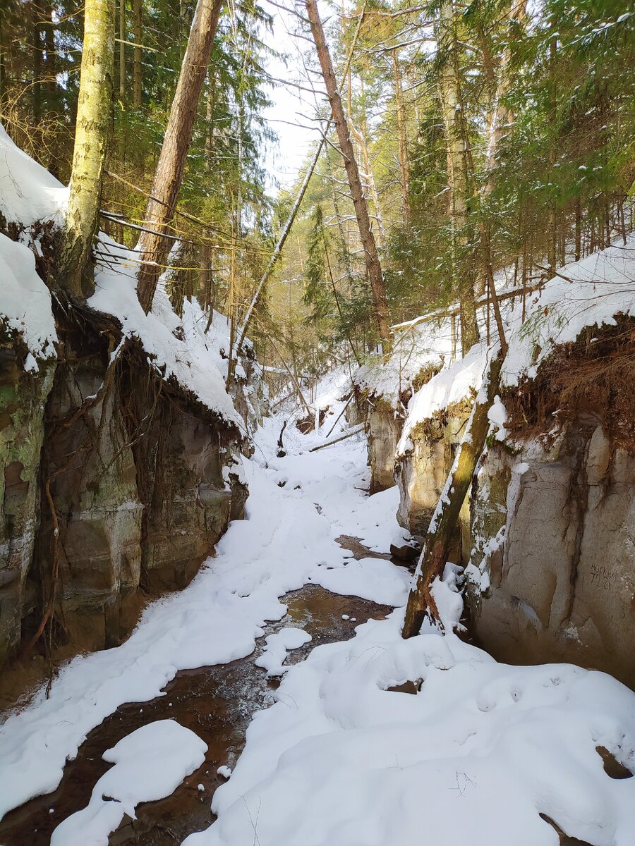
[[[20,150],[0,124],[0,213],[29,227],[36,221],[61,223],[69,190]]]

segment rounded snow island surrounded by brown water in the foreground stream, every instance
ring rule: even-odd
[[[149,722],[119,740],[102,758],[114,764],[104,773],[86,808],[61,822],[51,846],[108,846],[124,815],[135,819],[140,802],[169,796],[205,761],[207,744],[175,720]],[[202,789],[202,785],[199,785]]]

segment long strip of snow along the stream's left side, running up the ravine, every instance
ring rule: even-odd
[[[403,537],[395,519],[396,499],[366,497],[356,490],[366,474],[362,442],[351,439],[322,452],[302,453],[315,441],[295,431],[288,442],[289,459],[271,459],[281,424],[265,422],[254,458],[245,460],[247,519],[229,526],[215,558],[208,559],[184,591],[146,607],[124,644],[63,665],[48,698],[42,688],[30,707],[4,722],[0,816],[55,789],[66,760],[119,705],[159,695],[180,669],[250,655],[265,621],[286,613],[279,596],[307,583],[321,585],[330,578],[329,567],[343,567],[345,551],[336,537],[363,537],[367,525],[370,541],[384,541],[383,552],[391,538]],[[295,483],[279,487],[287,465],[290,475],[301,480],[298,490]],[[322,503],[323,514],[315,503]],[[356,568],[356,580],[361,583],[363,569],[371,574],[372,567],[364,563]],[[402,591],[403,579],[396,568],[392,580],[388,569],[375,573],[366,585],[367,596],[388,604]]]

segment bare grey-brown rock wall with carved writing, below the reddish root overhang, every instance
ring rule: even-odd
[[[468,595],[483,645],[504,661],[571,661],[635,686],[635,454],[597,417],[577,415],[549,446],[490,449],[472,529],[483,592]]]

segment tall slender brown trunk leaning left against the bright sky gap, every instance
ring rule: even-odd
[[[360,239],[362,239],[368,278],[370,280],[371,291],[373,293],[373,305],[375,309],[379,338],[382,340],[384,352],[389,352],[391,349],[389,336],[389,312],[384,276],[379,262],[377,244],[375,243],[373,230],[370,225],[366,198],[364,197],[362,191],[362,181],[359,175],[359,168],[357,168],[355,151],[353,150],[353,145],[351,143],[351,134],[349,132],[348,124],[346,123],[340,91],[338,91],[337,81],[335,80],[329,47],[326,43],[326,38],[324,37],[322,21],[320,20],[319,13],[317,11],[317,0],[306,0],[306,12],[308,14],[309,22],[311,23],[313,41],[315,41],[317,58],[319,59],[320,67],[322,68],[324,85],[326,85],[326,90],[329,95],[331,113],[333,115],[338,139],[340,140],[340,149],[342,151],[342,155],[344,156],[346,176],[348,177],[353,206],[355,206],[357,226],[359,227]]]

